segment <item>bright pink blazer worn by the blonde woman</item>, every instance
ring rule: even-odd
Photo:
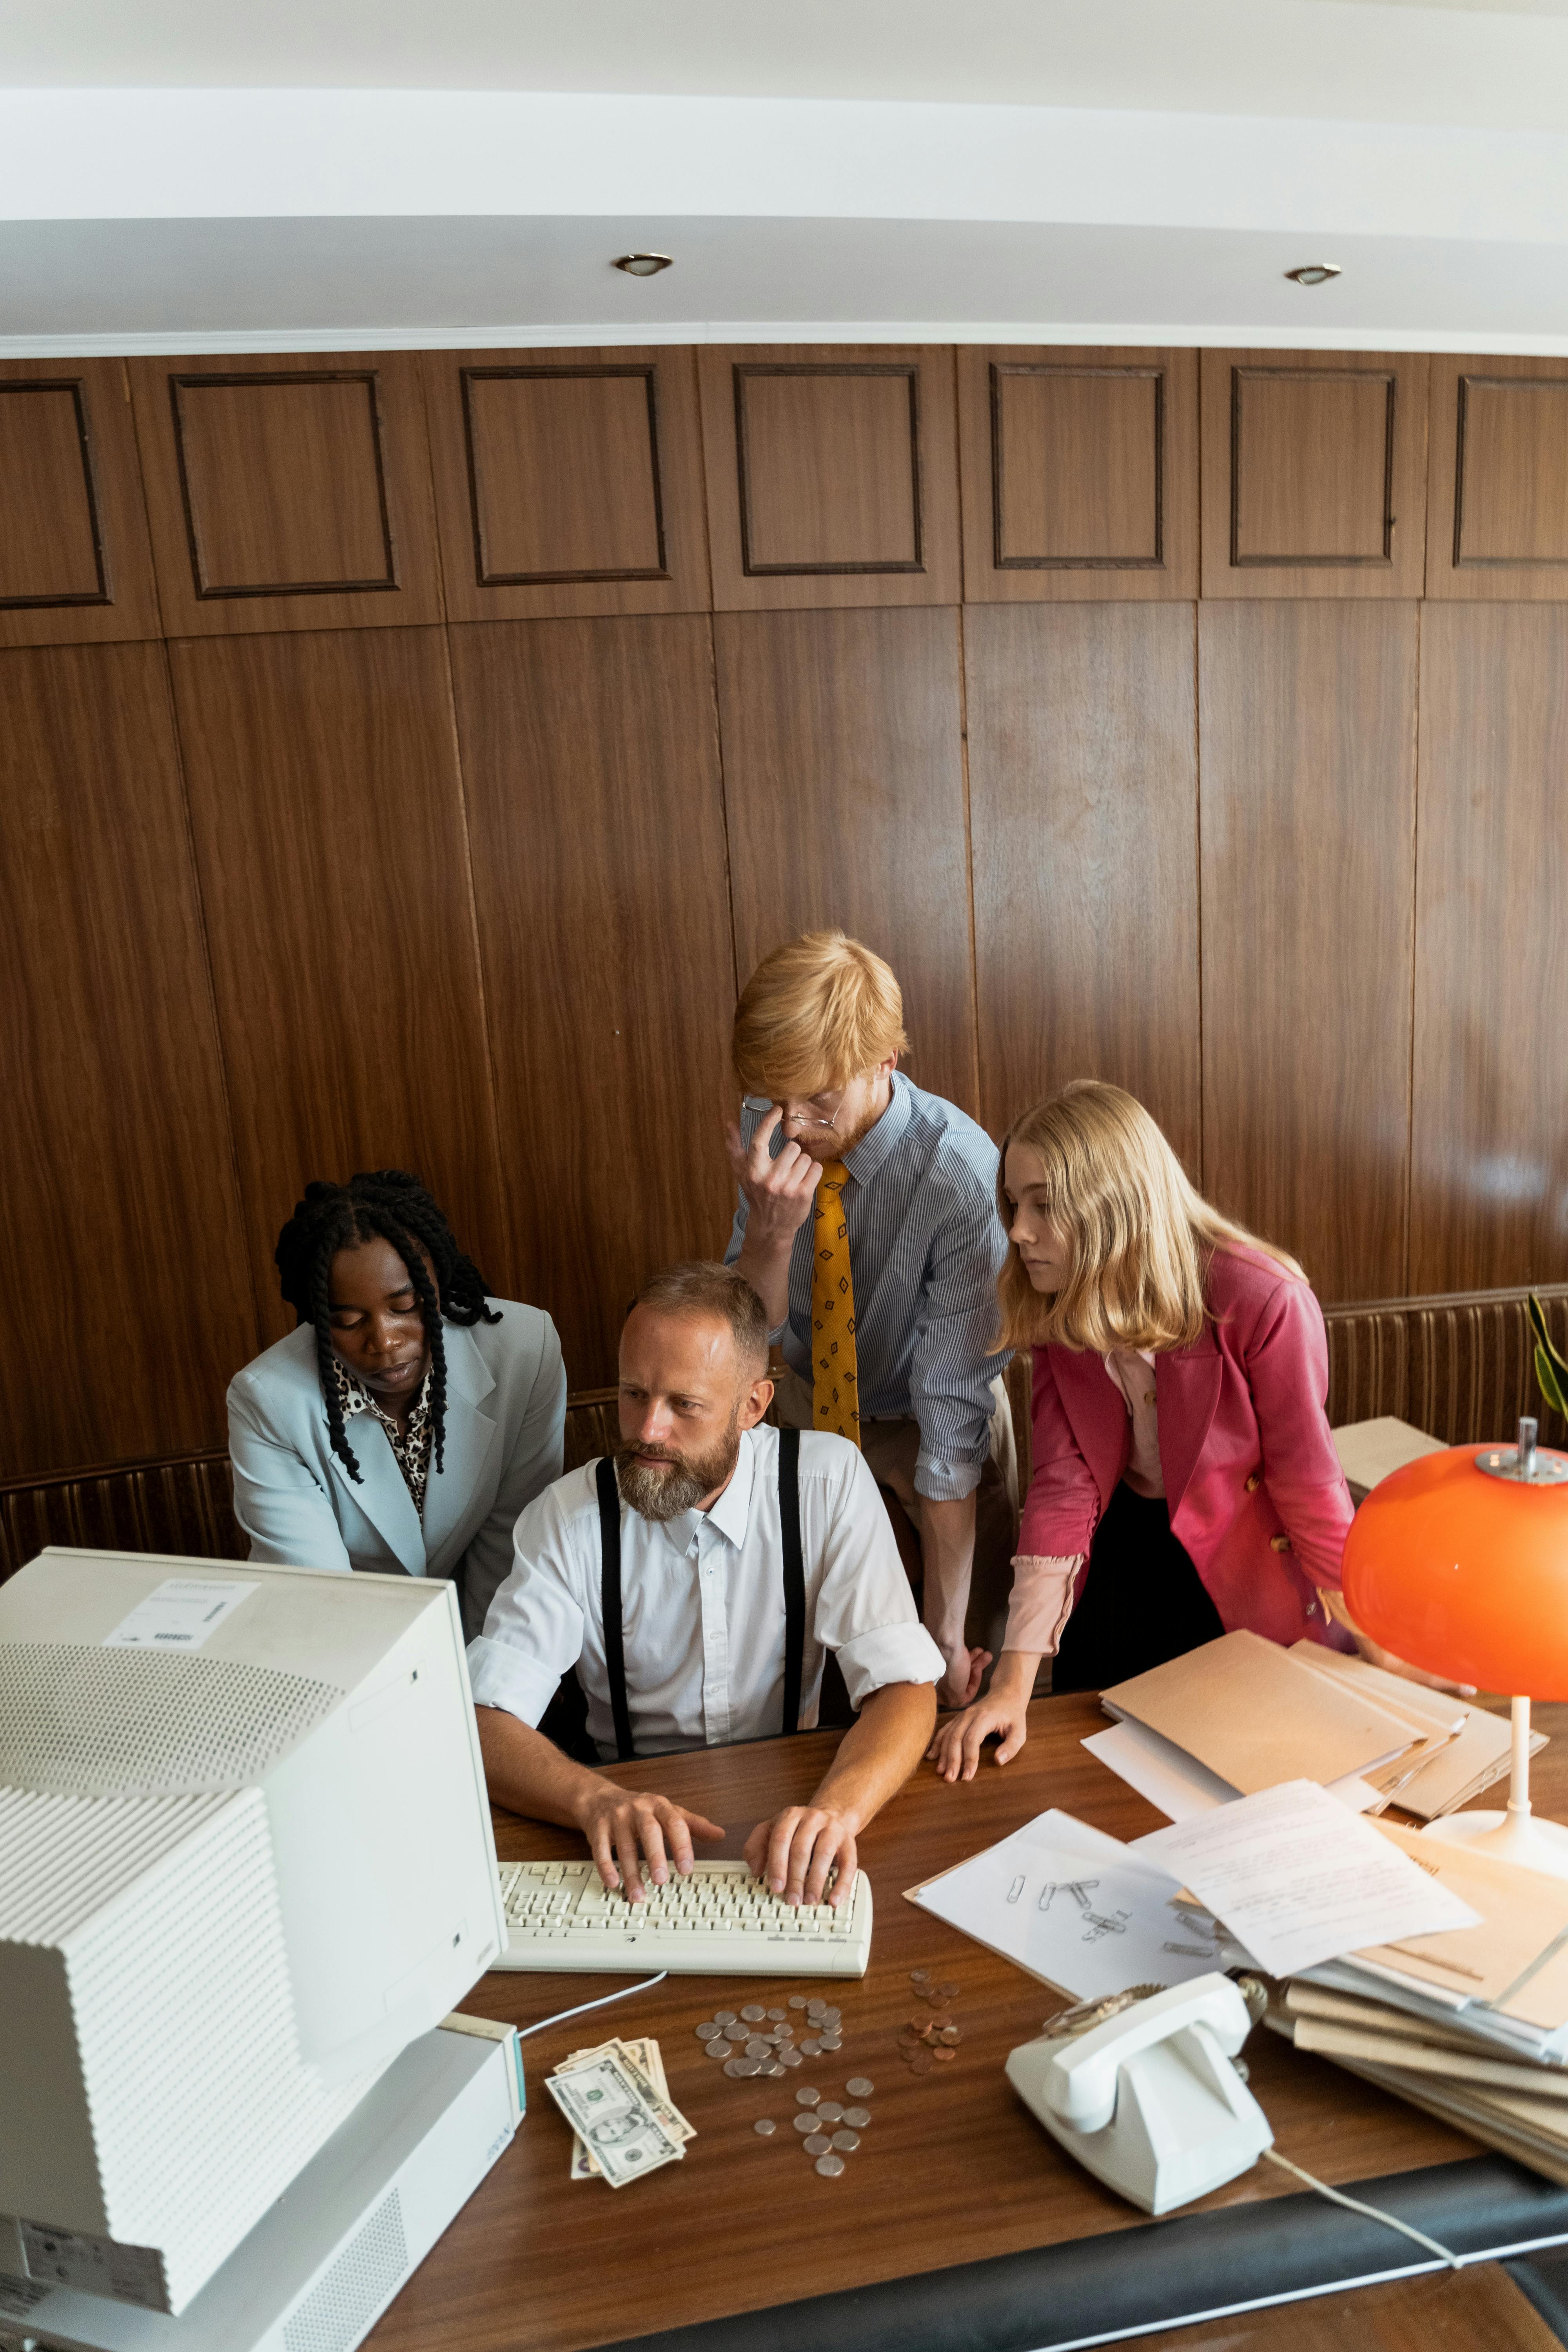
[[[1352,1649],[1319,1588],[1340,1585],[1349,1489],[1328,1435],[1328,1338],[1309,1284],[1251,1249],[1218,1249],[1211,1322],[1154,1357],[1171,1531],[1225,1630]],[[1126,1402],[1098,1355],[1034,1350],[1034,1479],[1018,1555],[1088,1552],[1128,1458]],[[1079,1569],[1077,1590],[1088,1569]]]

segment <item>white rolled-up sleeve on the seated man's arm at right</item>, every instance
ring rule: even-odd
[[[856,1449],[842,1454],[837,1491],[825,1498],[813,1632],[835,1651],[849,1703],[860,1708],[889,1682],[940,1682],[947,1665],[919,1623],[877,1479]]]

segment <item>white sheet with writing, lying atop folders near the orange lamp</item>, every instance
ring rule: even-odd
[[[1135,1839],[1128,1853],[1178,1872],[1269,1976],[1368,1943],[1481,1924],[1316,1780],[1284,1780],[1178,1820]]]

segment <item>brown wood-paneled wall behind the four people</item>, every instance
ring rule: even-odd
[[[1566,769],[1568,362],[5,362],[0,1463],[221,1444],[362,1164],[609,1378],[806,924],[1328,1301],[1563,1279]]]

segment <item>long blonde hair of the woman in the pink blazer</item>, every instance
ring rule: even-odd
[[[1255,1249],[1305,1282],[1284,1249],[1220,1216],[1187,1181],[1164,1134],[1131,1094],[1079,1077],[1013,1120],[1001,1141],[997,1207],[1013,1216],[1011,1143],[1044,1162],[1051,1218],[1067,1251],[1053,1294],[1037,1291],[1009,1242],[999,1282],[1001,1348],[1190,1348],[1204,1331],[1204,1277],[1215,1249]]]

